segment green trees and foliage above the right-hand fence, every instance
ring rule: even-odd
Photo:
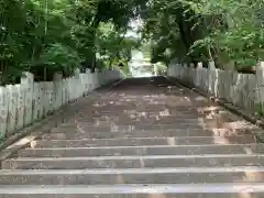
[[[264,55],[263,0],[158,0],[147,10],[144,34],[154,43],[153,62],[215,59],[224,68],[232,61],[240,68]]]

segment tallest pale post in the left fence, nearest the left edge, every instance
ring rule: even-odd
[[[24,108],[24,125],[32,122],[32,105],[33,105],[33,86],[34,76],[31,73],[23,73],[21,85],[25,89],[25,108]]]

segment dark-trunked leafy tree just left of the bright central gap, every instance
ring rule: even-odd
[[[97,31],[100,26],[100,23],[111,22],[118,31],[125,32],[130,20],[138,15],[138,11],[141,10],[145,6],[146,0],[80,0],[81,4],[79,7],[79,16],[84,18],[86,24],[90,24],[91,29],[89,35],[91,35],[91,40],[89,42],[88,47],[92,48],[92,55],[89,57],[96,67],[96,38]],[[94,16],[87,14],[88,8],[92,8]],[[88,63],[88,62],[87,62]]]

